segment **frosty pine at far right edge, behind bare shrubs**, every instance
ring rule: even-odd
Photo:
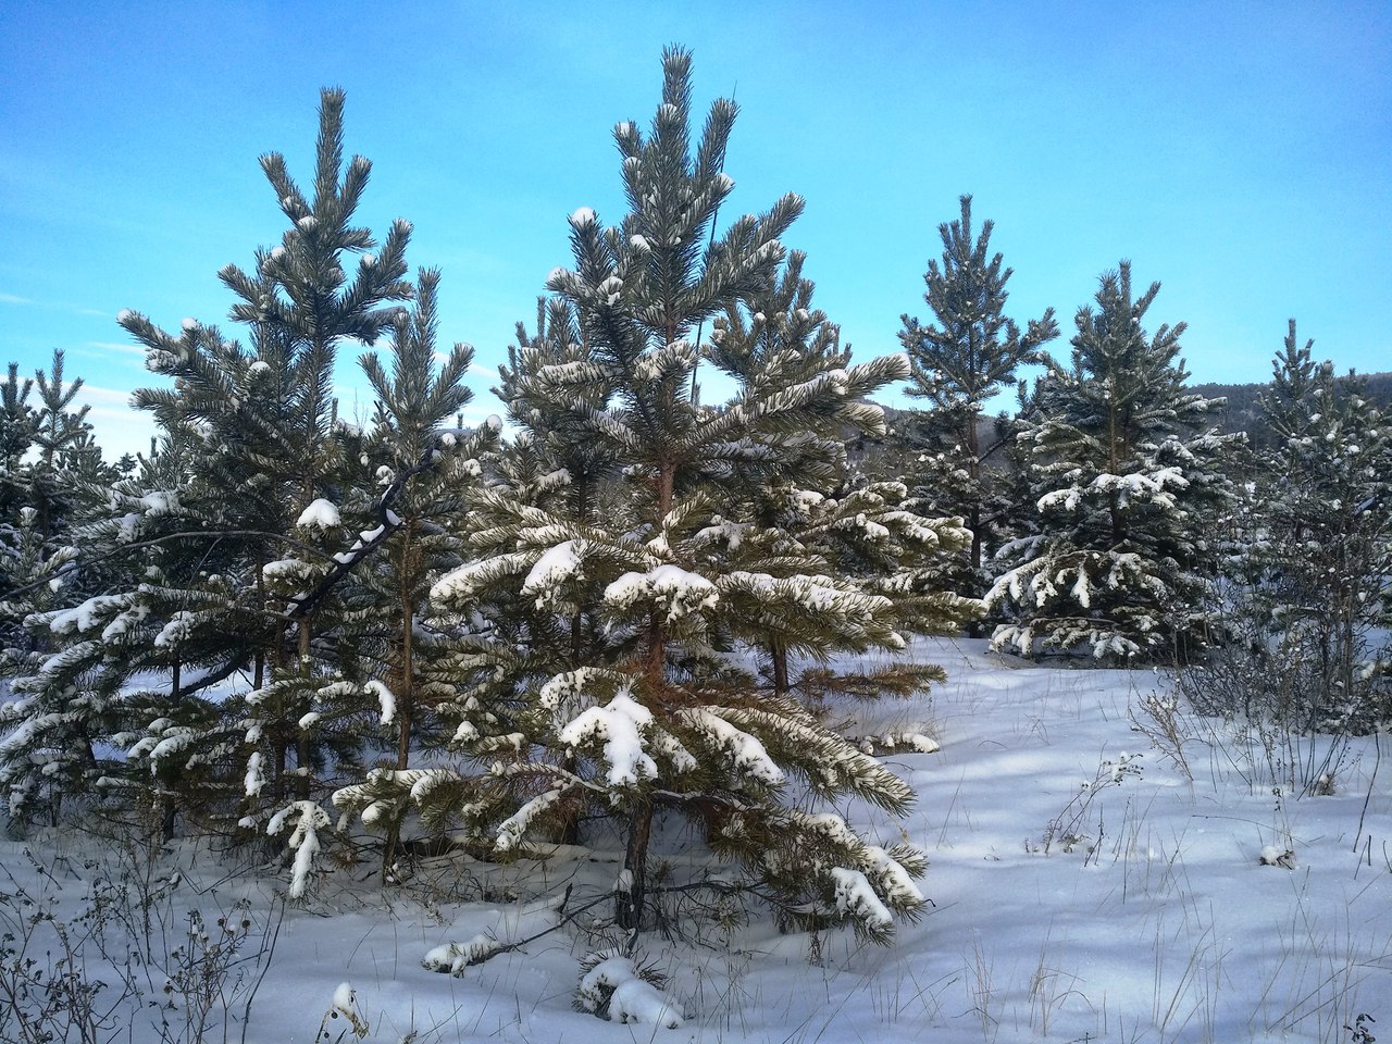
[[[1281,678],[1274,711],[1302,728],[1367,731],[1392,714],[1392,429],[1356,374],[1311,358],[1292,319],[1261,397],[1271,433],[1258,455],[1258,523],[1249,550],[1260,621],[1256,677]]]

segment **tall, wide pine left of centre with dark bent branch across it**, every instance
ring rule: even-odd
[[[93,741],[89,749],[99,739],[127,753],[117,766],[89,759],[70,777],[74,788],[93,778],[134,785],[153,796],[166,832],[175,807],[210,803],[226,814],[244,802],[244,825],[260,827],[266,805],[294,798],[271,823],[298,823],[301,855],[317,844],[312,827],[323,816],[308,807],[316,775],[359,773],[365,725],[380,721],[386,679],[401,670],[400,647],[352,640],[381,617],[369,594],[391,569],[377,575],[379,554],[393,541],[398,551],[419,544],[402,543],[406,519],[394,508],[411,515],[425,503],[412,500],[412,483],[451,458],[445,440],[425,445],[422,426],[394,433],[415,438],[412,447],[373,444],[337,418],[341,344],[372,344],[391,329],[416,361],[433,324],[433,301],[413,317],[401,308],[415,294],[404,278],[409,224],[394,223],[376,253],[372,234],[354,224],[370,164],[344,163],[342,103],[342,92],[323,93],[312,192],[278,155],[260,160],[291,227],[258,251],[249,273],[220,274],[249,348],[192,319],[171,334],[138,313],[120,316],[149,369],[173,380],[136,395],[166,433],[166,451],[118,483],[110,514],[92,523],[90,547],[120,565],[109,594],[36,619],[61,649],[33,675],[28,717],[6,752],[17,773],[32,764],[25,748],[35,721],[58,721],[45,717],[52,704],[68,732]],[[459,366],[455,358],[447,370]],[[426,390],[412,383],[419,376],[383,379],[393,420],[458,406],[458,373]],[[400,454],[412,448],[420,459],[402,468]],[[397,479],[377,486],[372,457]],[[418,551],[404,553],[406,567]],[[426,582],[412,576],[406,586],[420,590]],[[21,786],[17,778],[13,789]]]

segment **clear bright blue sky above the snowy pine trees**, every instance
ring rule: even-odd
[[[383,13],[390,10],[390,18]],[[359,216],[415,224],[441,341],[477,348],[476,413],[518,319],[567,264],[567,216],[618,220],[610,136],[646,124],[664,45],[697,104],[734,92],[741,212],[807,199],[786,238],[857,358],[926,316],[937,226],[974,195],[1008,312],[1072,316],[1119,259],[1189,323],[1196,380],[1263,380],[1286,319],[1340,369],[1392,369],[1386,3],[25,3],[0,6],[0,362],[54,348],[107,455],[148,444],[116,326],[223,323],[217,281],[278,241],[256,166],[308,180],[319,88],[373,160]],[[354,352],[345,412],[365,411]]]

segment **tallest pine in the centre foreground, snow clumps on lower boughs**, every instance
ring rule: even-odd
[[[689,56],[668,50],[663,65],[651,132],[615,128],[629,213],[604,227],[589,207],[576,210],[574,267],[548,281],[575,317],[572,358],[530,374],[551,401],[574,404],[574,430],[604,448],[624,496],[580,521],[569,509],[487,493],[496,525],[475,540],[497,551],[433,592],[464,625],[480,604],[500,601],[498,589],[569,612],[582,603],[567,592],[587,586],[597,592],[607,654],[522,679],[507,693],[505,721],[462,722],[461,749],[477,759],[476,771],[423,774],[413,796],[423,816],[487,830],[498,851],[554,827],[557,810],[574,803],[617,817],[625,856],[615,913],[625,928],[643,923],[661,810],[693,821],[795,916],[844,919],[887,938],[894,915],[912,916],[923,903],[912,883],[922,856],[873,845],[839,816],[810,814],[789,791],[856,795],[896,810],[912,799],[909,788],[796,702],[756,685],[731,663],[738,647],[727,642],[742,619],[760,635],[777,622],[818,650],[894,647],[895,604],[839,576],[786,568],[807,561],[807,551],[743,554],[731,568],[738,548],[728,535],[748,532],[749,543],[735,543],[753,548],[760,528],[727,514],[741,500],[722,483],[777,468],[795,430],[877,423],[864,397],[902,379],[906,366],[894,356],[793,383],[746,381],[720,406],[693,400],[697,363],[720,363],[689,338],[731,302],[768,287],[784,258],[780,235],[802,200],[785,196],[711,235],[734,188],[721,166],[735,107],[715,102],[693,143]],[[944,547],[962,535],[948,522],[924,526]]]

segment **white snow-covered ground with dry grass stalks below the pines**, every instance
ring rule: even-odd
[[[1343,748],[1194,720],[1168,709],[1168,681],[1154,672],[1020,667],[977,642],[913,651],[941,663],[947,685],[848,707],[862,734],[927,728],[941,742],[937,753],[887,756],[919,793],[906,820],[842,810],[881,842],[902,830],[931,859],[922,887],[934,905],[889,948],[780,934],[757,909],[746,923],[674,919],[638,958],[665,976],[660,992],[622,960],[582,967],[606,942],[574,928],[468,965],[553,924],[551,905],[536,901],[543,889],[558,898],[572,885],[574,909],[612,884],[617,851],[557,849],[504,869],[423,857],[406,887],[387,892],[363,862],[326,874],[308,903],[281,913],[273,896],[284,878],[192,845],[146,862],[72,830],[0,845],[0,892],[11,896],[3,930],[14,933],[17,913],[50,909],[74,942],[93,937],[82,955],[89,980],[113,976],[97,928],[117,963],[145,955],[136,984],[173,1008],[122,1004],[100,1036],[136,1044],[196,1040],[188,1016],[205,1009],[205,1040],[266,1044],[1367,1044],[1392,1034],[1392,764],[1379,766],[1377,739]],[[1382,748],[1392,761],[1385,738]],[[674,864],[690,859],[681,841],[678,830],[664,838]],[[110,870],[122,866],[125,885]],[[150,916],[136,906],[128,923],[110,923],[120,905],[90,898],[103,876],[132,895],[153,889]],[[33,908],[19,905],[18,885]],[[109,923],[78,920],[103,903]],[[191,938],[192,909],[202,930]],[[28,955],[52,962],[52,924],[33,933]],[[235,955],[219,949],[221,938]],[[180,969],[191,970],[166,992]],[[611,1011],[682,1025],[578,1011],[582,976],[590,994],[606,976],[628,983]],[[207,986],[214,979],[221,992]],[[93,1004],[111,1005],[122,988],[113,980]],[[0,997],[0,1011],[8,1002]],[[4,1018],[0,1038],[19,1040]]]

